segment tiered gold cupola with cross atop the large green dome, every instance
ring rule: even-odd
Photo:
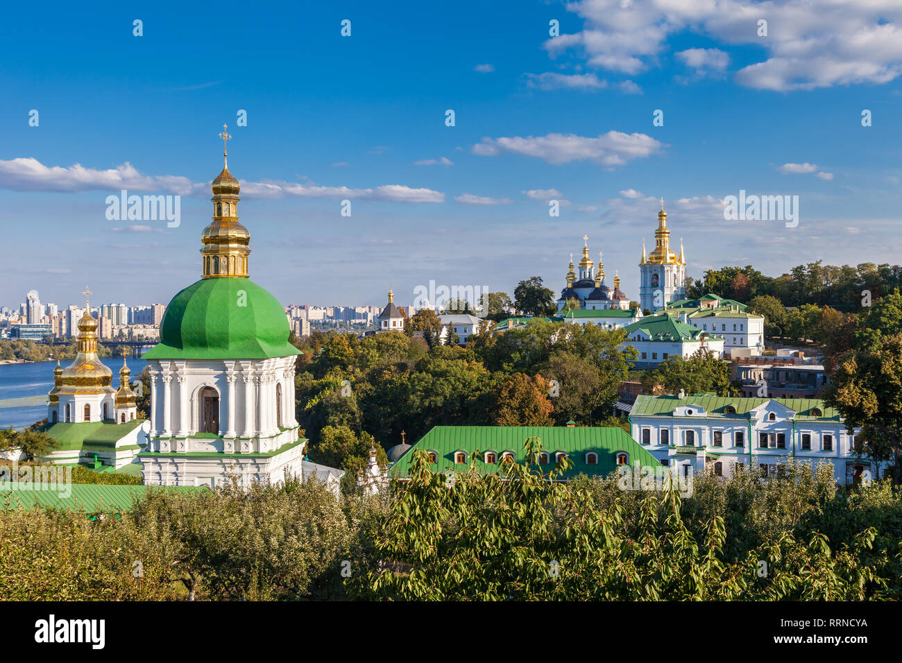
[[[219,137],[224,146],[232,138],[226,134],[226,124]],[[238,223],[238,193],[241,185],[228,171],[228,150],[223,150],[224,166],[222,172],[213,180],[213,221],[204,228],[200,250],[203,258],[203,278],[226,279],[247,278],[247,255],[251,234],[247,228]]]

